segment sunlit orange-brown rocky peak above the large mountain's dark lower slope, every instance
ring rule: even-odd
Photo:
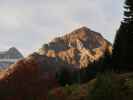
[[[105,53],[111,54],[111,52],[112,45],[100,33],[81,27],[44,44],[37,53],[55,58],[58,63],[63,61],[65,64],[85,68],[102,58]]]

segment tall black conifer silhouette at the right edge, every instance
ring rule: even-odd
[[[133,65],[133,0],[125,1],[124,18],[113,45],[113,63],[118,67]]]

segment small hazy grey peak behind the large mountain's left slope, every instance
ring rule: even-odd
[[[15,47],[2,51],[0,52],[0,69],[6,68],[22,58],[23,55]]]

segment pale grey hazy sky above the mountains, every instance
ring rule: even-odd
[[[0,0],[0,50],[32,53],[53,37],[87,26],[111,42],[123,0]]]

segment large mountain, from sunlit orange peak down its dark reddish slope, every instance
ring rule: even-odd
[[[44,44],[37,52],[2,71],[0,99],[48,100],[48,91],[59,87],[60,80],[65,84],[80,82],[82,69],[111,53],[112,45],[106,39],[81,27]]]

